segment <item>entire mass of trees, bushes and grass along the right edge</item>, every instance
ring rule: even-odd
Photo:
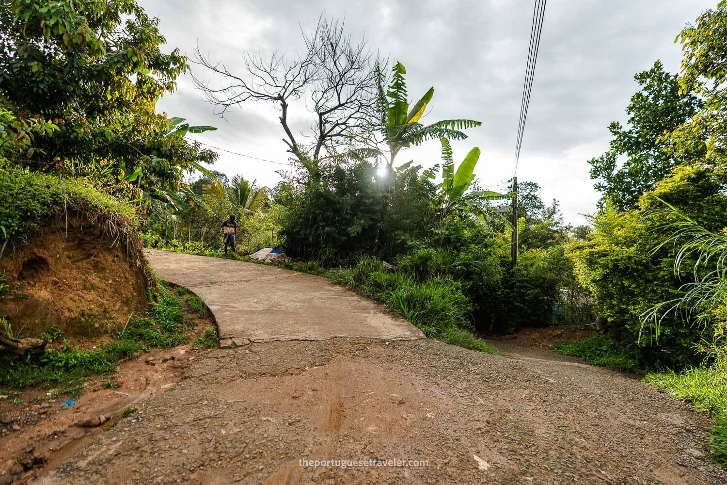
[[[631,127],[612,124],[611,151],[591,161],[603,207],[569,248],[619,344],[597,335],[558,350],[608,366],[616,358],[616,367],[621,356],[686,365],[646,382],[715,416],[707,441],[727,465],[727,1],[678,40],[680,76],[659,63],[638,74]],[[621,155],[629,158],[616,168]]]

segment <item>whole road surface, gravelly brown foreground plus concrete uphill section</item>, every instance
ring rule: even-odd
[[[189,280],[170,279],[240,345],[196,356],[177,385],[42,483],[727,483],[704,449],[710,420],[638,380],[547,351],[488,356],[418,339],[322,278],[191,266],[182,254],[151,261],[169,278],[177,257]],[[218,292],[190,268],[207,268]],[[230,271],[254,277],[238,284]]]

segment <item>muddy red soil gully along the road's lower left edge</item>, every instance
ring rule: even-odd
[[[26,483],[38,473],[62,465],[94,436],[113,428],[126,407],[141,408],[152,396],[176,385],[194,359],[209,352],[193,349],[191,342],[214,325],[211,316],[188,312],[185,319],[195,324],[190,345],[155,349],[120,361],[114,374],[86,382],[74,406],[61,408],[60,404],[73,397],[56,396],[53,389],[28,390],[20,396],[19,405],[12,404],[9,396],[0,398],[0,484]],[[109,339],[73,341],[81,348],[92,348]],[[119,387],[105,388],[104,382],[110,380]],[[101,416],[98,425],[82,425]]]

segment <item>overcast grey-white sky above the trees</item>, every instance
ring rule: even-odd
[[[482,156],[475,170],[483,188],[497,188],[513,175],[515,137],[525,76],[533,0],[247,1],[141,0],[161,19],[168,47],[192,55],[195,44],[230,71],[244,75],[245,50],[302,50],[300,28],[318,15],[344,17],[354,37],[406,66],[409,95],[435,95],[423,121],[483,121],[467,140],[454,142],[459,163],[473,146]],[[587,161],[608,148],[608,124],[625,121],[624,109],[637,84],[633,76],[659,59],[680,68],[674,39],[687,22],[716,0],[551,0],[547,3],[534,87],[523,139],[518,180],[542,186],[542,198],[558,199],[566,222],[585,223],[599,195]],[[198,66],[196,76],[209,78]],[[255,103],[233,109],[226,120],[212,113],[189,74],[158,109],[192,124],[211,124],[198,140],[262,159],[286,162],[278,114]],[[308,113],[291,113],[304,127]],[[430,141],[398,156],[429,166],[440,145]],[[220,152],[214,169],[276,185],[286,167]],[[502,185],[499,185],[502,187]]]

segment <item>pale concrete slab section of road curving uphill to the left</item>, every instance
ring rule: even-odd
[[[326,278],[252,262],[146,250],[156,274],[201,297],[220,327],[220,345],[276,340],[424,338],[381,305]]]

